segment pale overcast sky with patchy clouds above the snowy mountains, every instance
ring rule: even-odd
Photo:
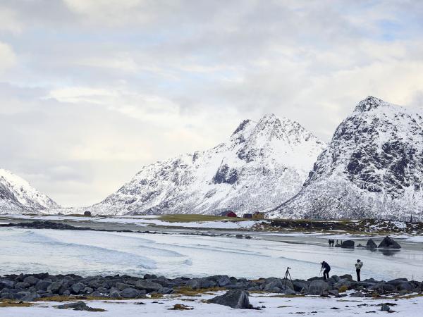
[[[423,106],[423,1],[1,0],[0,168],[63,206],[286,116]]]

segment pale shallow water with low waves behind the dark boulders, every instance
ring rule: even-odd
[[[167,277],[226,274],[238,278],[293,278],[319,275],[321,261],[331,274],[354,274],[364,262],[362,279],[423,280],[423,251],[341,249],[311,244],[194,235],[0,228],[0,272],[77,273]]]

